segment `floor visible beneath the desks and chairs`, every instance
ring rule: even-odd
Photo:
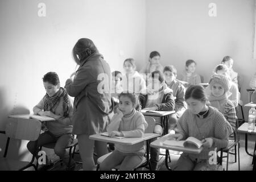
[[[255,144],[255,135],[249,135],[249,151],[253,151],[254,149],[254,144]],[[251,171],[253,169],[253,165],[251,164],[253,158],[249,155],[246,154],[245,152],[245,135],[240,136],[240,143],[241,143],[241,148],[240,148],[240,170],[241,171]],[[164,153],[164,150],[162,150]],[[171,154],[171,163],[168,163],[168,166],[171,168],[174,168],[177,162],[177,159],[179,159],[180,155],[175,155]],[[229,155],[229,171],[237,171],[238,170],[238,163],[234,163],[234,155]],[[75,160],[76,161],[81,161],[79,154],[75,155]],[[96,160],[96,159],[95,159]],[[223,166],[224,168],[226,167],[226,159],[223,159]],[[57,165],[52,170],[65,170],[65,165],[60,166]],[[167,168],[164,163],[164,156],[160,156],[160,162],[159,162],[159,170],[160,171],[167,171]],[[77,164],[75,170],[82,170],[82,165]],[[147,171],[148,169],[143,168],[142,170]]]

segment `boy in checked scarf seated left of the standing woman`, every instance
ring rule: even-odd
[[[39,147],[56,142],[55,154],[68,165],[69,154],[65,150],[71,142],[73,142],[72,133],[72,113],[73,113],[73,101],[68,96],[65,89],[60,87],[59,76],[55,72],[48,72],[43,77],[44,88],[46,89],[46,95],[42,98],[38,105],[34,107],[34,114],[46,115],[48,117],[55,118],[56,121],[46,122],[44,133],[39,135],[38,146],[34,148],[35,141],[30,141],[27,144],[28,150],[31,154],[35,154],[38,158]],[[71,159],[70,169],[75,168],[75,162]],[[46,169],[53,166],[47,159],[41,169]]]

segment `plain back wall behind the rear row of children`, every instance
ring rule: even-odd
[[[208,14],[210,3],[217,5],[216,17]],[[246,88],[256,72],[254,22],[254,0],[148,0],[146,56],[159,51],[161,63],[175,65],[178,78],[185,61],[193,59],[205,82],[224,56],[232,56],[234,71],[243,77],[241,98],[246,104]]]

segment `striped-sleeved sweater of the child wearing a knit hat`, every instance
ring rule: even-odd
[[[232,130],[229,130],[229,134],[233,133],[233,131],[236,129],[236,109],[234,105],[230,106],[229,109],[225,110],[225,105],[228,102],[227,98],[218,100],[217,98],[209,97],[209,101],[210,106],[218,109],[218,111],[220,111],[224,115],[226,121],[228,121],[229,124],[232,126]]]

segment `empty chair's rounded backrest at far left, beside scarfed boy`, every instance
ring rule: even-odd
[[[41,125],[36,119],[10,118],[5,133],[10,138],[35,141],[39,137]]]

